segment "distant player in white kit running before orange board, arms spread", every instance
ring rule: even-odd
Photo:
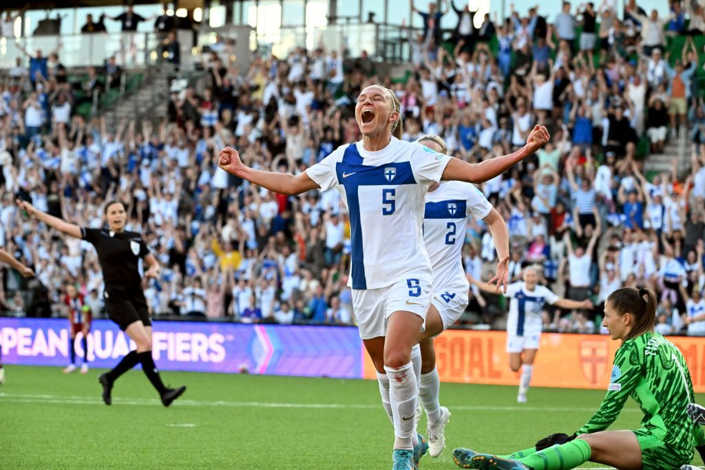
[[[539,285],[539,274],[533,266],[524,268],[523,281],[509,285],[504,296],[509,300],[509,317],[507,319],[507,352],[509,367],[517,372],[522,369],[517,402],[527,401],[527,391],[531,383],[534,359],[541,342],[541,311],[545,304],[555,305],[561,309],[591,309],[594,307],[589,299],[577,302],[561,299],[548,287]],[[474,285],[485,292],[495,292],[492,285],[470,279]]]

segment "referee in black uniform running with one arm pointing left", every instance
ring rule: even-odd
[[[127,213],[123,203],[113,201],[106,204],[104,216],[108,223],[107,230],[79,227],[39,211],[29,202],[19,199],[17,205],[51,228],[90,242],[98,253],[105,284],[105,309],[109,318],[137,345],[137,350],[130,351],[114,369],[100,376],[105,404],[112,402],[110,394],[118,377],[139,363],[159,392],[161,402],[168,407],[186,387],[166,388],[161,382],[159,370],[152,359],[152,321],[149,320],[145,292],[142,291],[142,278],[137,269],[137,261],[142,258],[149,266],[145,276],[156,278],[159,276],[159,263],[154,255],[149,253],[139,233],[125,232]]]

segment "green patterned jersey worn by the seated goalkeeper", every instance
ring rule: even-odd
[[[603,431],[632,397],[642,408],[642,428],[676,448],[705,443],[703,431],[686,414],[694,401],[685,359],[678,347],[655,331],[624,342],[615,354],[607,395],[578,434]]]

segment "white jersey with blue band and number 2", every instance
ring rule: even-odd
[[[470,283],[462,268],[467,217],[482,220],[492,204],[471,183],[447,181],[426,194],[424,243],[434,269],[434,292],[466,292]]]

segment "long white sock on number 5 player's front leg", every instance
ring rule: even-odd
[[[413,450],[415,433],[416,400],[419,389],[414,376],[414,367],[409,362],[401,367],[387,367],[389,378],[389,401],[394,417],[394,448]]]

